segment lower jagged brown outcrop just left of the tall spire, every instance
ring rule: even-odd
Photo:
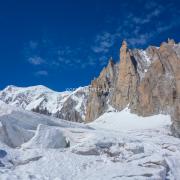
[[[87,102],[86,122],[98,118],[108,109],[109,96],[115,81],[115,64],[112,59],[99,77],[91,82]]]

